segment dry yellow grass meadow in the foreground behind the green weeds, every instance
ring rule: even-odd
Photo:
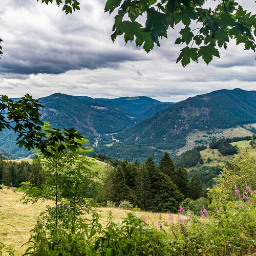
[[[10,248],[17,250],[21,255],[26,250],[26,246],[20,248],[30,237],[30,230],[36,224],[36,220],[41,211],[45,210],[47,204],[53,202],[37,202],[34,205],[23,204],[20,202],[22,193],[15,188],[0,190],[0,242],[5,244],[4,250]],[[127,210],[118,208],[99,208],[102,216],[100,223],[106,225],[109,211],[113,212],[115,222],[122,222]],[[161,222],[162,226],[167,227],[168,214],[154,214],[152,212],[137,211],[137,217],[145,217],[147,223],[157,225]],[[175,215],[177,221],[178,216]],[[7,253],[4,255],[8,255]]]

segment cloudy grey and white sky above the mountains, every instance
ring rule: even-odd
[[[221,58],[183,68],[174,45],[178,30],[169,30],[161,47],[150,53],[119,36],[112,42],[114,15],[104,0],[81,0],[80,11],[66,15],[54,4],[5,0],[0,10],[0,94],[34,98],[53,93],[116,98],[144,95],[180,101],[220,89],[256,90],[253,51],[231,41]],[[256,13],[252,0],[238,0]]]

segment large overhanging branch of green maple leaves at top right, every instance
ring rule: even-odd
[[[214,6],[206,8],[206,4]],[[256,15],[234,0],[108,0],[105,11],[115,10],[112,40],[123,34],[125,42],[135,41],[146,52],[155,44],[160,46],[169,28],[183,24],[175,41],[185,45],[177,58],[183,67],[201,56],[207,64],[213,56],[220,57],[218,48],[226,49],[230,38],[244,44],[245,50],[255,51]],[[140,16],[145,16],[143,25],[138,22]]]

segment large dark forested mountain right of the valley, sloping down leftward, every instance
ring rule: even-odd
[[[219,90],[190,97],[118,133],[123,144],[177,150],[191,132],[256,122],[256,91]]]

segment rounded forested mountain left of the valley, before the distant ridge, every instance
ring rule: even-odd
[[[134,120],[126,111],[113,102],[91,98],[78,98],[56,93],[39,101],[45,106],[41,120],[57,128],[74,127],[86,138],[94,140],[101,133],[116,133]]]

